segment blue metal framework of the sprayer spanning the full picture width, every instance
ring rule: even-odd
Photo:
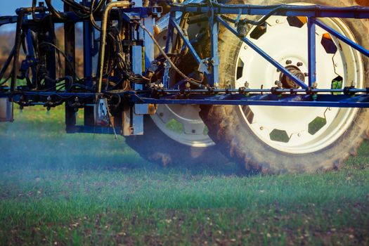
[[[85,4],[89,4],[88,0],[84,0]],[[150,32],[153,32],[155,21],[153,19],[153,8],[144,8],[141,1],[136,1],[135,8],[124,9],[124,20],[133,21],[141,20],[142,23]],[[278,8],[278,10],[276,10]],[[67,12],[68,9],[66,8]],[[183,30],[178,25],[178,21],[181,18],[181,13],[195,13],[195,14],[207,14],[209,17],[209,30],[211,33],[210,45],[211,56],[209,58],[200,58],[195,48],[191,43],[191,40],[186,37]],[[79,18],[73,13],[67,12],[70,16],[70,20],[65,22],[65,27],[68,27],[68,23],[74,25],[75,22],[81,22]],[[219,89],[219,54],[218,54],[218,33],[219,25],[224,25],[236,36],[238,31],[231,27],[226,20],[221,18],[221,14],[236,14],[238,18],[240,15],[283,15],[283,16],[306,16],[308,18],[308,37],[309,37],[309,84],[305,84],[297,77],[294,77],[283,65],[280,65],[276,60],[273,60],[267,53],[262,51],[259,47],[254,45],[252,41],[246,37],[240,37],[247,45],[257,51],[260,56],[268,60],[269,63],[274,65],[278,70],[290,77],[296,84],[301,86],[302,89],[282,89],[273,87],[271,89]],[[207,3],[201,3],[198,1],[186,1],[184,4],[174,4],[171,6],[171,12],[165,17],[167,23],[167,46],[166,53],[171,51],[174,34],[179,35],[183,39],[184,45],[186,45],[190,53],[195,58],[200,67],[200,72],[203,72],[207,77],[208,85],[199,89],[173,89],[169,87],[169,77],[167,77],[169,66],[165,68],[163,86],[154,89],[145,89],[142,86],[134,85],[134,90],[131,91],[102,91],[102,92],[57,92],[57,91],[24,91],[21,88],[15,86],[15,79],[13,77],[11,88],[1,88],[0,98],[11,98],[12,101],[20,101],[21,97],[27,97],[30,99],[38,98],[39,96],[57,96],[61,100],[68,100],[70,98],[89,98],[91,103],[96,102],[96,98],[104,96],[105,93],[115,93],[120,96],[129,107],[134,108],[135,104],[198,104],[198,105],[272,105],[272,106],[302,106],[302,107],[339,107],[339,108],[369,108],[369,89],[356,89],[354,86],[348,86],[343,89],[318,89],[316,83],[316,39],[315,29],[316,26],[322,27],[324,30],[337,37],[337,39],[343,41],[347,45],[356,49],[363,56],[369,56],[369,51],[363,46],[356,44],[354,41],[343,37],[337,31],[326,26],[319,20],[319,18],[362,18],[369,19],[369,8],[353,6],[347,8],[337,8],[328,6],[252,6],[252,5],[226,5],[217,4],[212,1]],[[15,17],[11,17],[8,21],[3,20],[1,25],[14,22]],[[27,24],[30,20],[25,18],[24,22]],[[93,31],[91,24],[88,21],[84,21],[84,77],[87,79],[87,84],[91,84],[91,77],[93,76],[93,61],[92,56],[96,54],[96,48],[93,46]],[[162,25],[165,27],[165,25]],[[70,33],[66,35],[71,35]],[[153,50],[154,44],[150,40],[142,29],[137,32],[137,37],[134,39],[145,46],[145,58],[142,58],[141,46],[134,46],[132,56],[136,61],[133,63],[132,70],[134,72],[143,72],[142,64],[144,61],[145,67],[149,67],[150,63],[154,60]],[[66,39],[65,47],[67,55],[72,56],[74,50],[73,38]],[[70,47],[68,50],[67,47]],[[55,63],[55,59],[53,61]],[[366,69],[369,69],[367,67]],[[67,70],[67,68],[66,68]],[[70,71],[66,71],[66,74],[70,74]],[[183,80],[183,83],[186,82]],[[33,105],[44,104],[37,103]],[[32,104],[30,104],[32,105]],[[66,104],[67,105],[67,104]],[[91,112],[91,105],[84,105],[85,110]],[[91,115],[91,113],[90,113]],[[135,115],[134,134],[142,134],[143,132],[143,115]],[[66,106],[66,120],[67,126],[72,126],[69,132],[82,131],[75,127],[74,111],[72,108]],[[93,119],[85,117],[85,127],[93,126]],[[68,131],[68,127],[67,127]],[[84,129],[83,131],[90,132],[91,129]],[[96,132],[96,130],[93,130]]]

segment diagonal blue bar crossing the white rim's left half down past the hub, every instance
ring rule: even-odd
[[[236,30],[234,30],[233,27],[231,27],[231,25],[229,25],[226,21],[224,21],[220,16],[216,16],[216,18],[217,18],[217,20],[222,25],[224,25],[224,27],[226,27],[233,34],[235,34],[236,36],[238,36],[238,32]],[[250,46],[254,51],[256,51],[257,53],[259,53],[260,56],[262,56],[263,58],[265,58],[266,60],[268,60],[269,63],[271,63],[273,66],[277,67],[278,70],[280,70],[281,72],[283,72],[283,74],[285,74],[287,77],[290,77],[290,79],[292,79],[292,81],[294,83],[298,84],[299,86],[301,86],[304,89],[309,88],[306,84],[304,84],[304,82],[302,82],[300,79],[298,79],[297,77],[295,77],[294,75],[292,75],[290,71],[288,71],[285,67],[283,67],[283,65],[280,65],[280,63],[278,63],[271,56],[269,56],[267,53],[265,53],[263,50],[261,50],[261,48],[259,48],[257,45],[255,45],[254,43],[252,43],[252,41],[250,41],[246,37],[239,37],[239,38],[242,41],[244,41],[248,46]]]

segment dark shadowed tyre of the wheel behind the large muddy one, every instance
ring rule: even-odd
[[[226,164],[227,158],[219,153],[215,146],[193,148],[174,141],[165,135],[153,122],[150,116],[145,116],[142,136],[129,136],[126,143],[136,150],[144,159],[168,165],[192,164]]]

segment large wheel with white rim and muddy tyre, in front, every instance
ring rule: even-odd
[[[239,2],[237,2],[239,3]],[[245,4],[273,5],[280,1],[248,0]],[[329,5],[328,0],[285,0],[283,4]],[[335,1],[335,6],[355,5]],[[368,23],[363,20],[321,19],[349,39],[369,48]],[[252,27],[247,38],[307,83],[306,18],[271,17],[262,27]],[[368,58],[330,36],[320,27],[317,39],[318,88],[368,82]],[[271,88],[276,80],[292,88],[288,79],[224,27],[219,33],[220,86]],[[335,169],[368,133],[368,110],[340,108],[296,108],[266,106],[205,106],[200,112],[209,136],[224,153],[250,171],[264,173],[313,172]]]

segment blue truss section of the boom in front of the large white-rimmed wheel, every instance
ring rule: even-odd
[[[206,59],[200,59],[195,48],[188,40],[179,25],[177,24],[176,13],[197,13],[207,14],[209,16],[209,28],[211,39],[212,56]],[[247,37],[239,35],[238,30],[233,28],[221,15],[235,14],[238,15],[280,15],[280,16],[306,16],[308,18],[308,44],[309,44],[309,84],[305,84],[299,78],[292,75],[283,65],[274,60],[265,51],[252,43]],[[344,89],[318,89],[316,87],[316,26],[323,28],[326,32],[336,37],[345,44],[359,51],[363,56],[369,57],[368,49],[354,41],[347,39],[342,34],[325,25],[319,18],[369,18],[369,8],[361,6],[351,6],[344,8],[330,6],[293,6],[293,5],[278,5],[278,6],[257,6],[257,5],[229,5],[217,4],[213,2],[204,3],[189,3],[189,4],[174,4],[171,7],[171,15],[169,18],[168,36],[173,33],[173,30],[183,39],[184,44],[188,47],[190,53],[195,58],[196,62],[201,66],[211,67],[203,70],[210,86],[219,84],[219,56],[218,56],[218,32],[219,25],[224,25],[226,29],[239,37],[245,44],[250,46],[260,56],[265,58],[278,70],[283,72],[287,77],[290,77],[294,83],[302,89],[286,90],[282,88],[271,89],[250,89],[242,88],[239,90],[219,90],[208,89],[206,96],[200,96],[200,92],[205,91],[167,91],[165,97],[153,98],[152,96],[137,96],[137,102],[143,103],[164,103],[164,104],[214,104],[214,105],[273,105],[273,106],[308,106],[308,107],[339,107],[339,108],[367,108],[369,89],[356,89],[354,86],[349,86]],[[167,51],[169,51],[170,41],[167,41]],[[368,68],[366,68],[368,69]],[[164,87],[168,87],[164,84]],[[179,96],[178,93],[186,94]],[[325,94],[321,94],[325,93]],[[327,93],[332,93],[328,95]],[[333,95],[335,93],[335,95]],[[264,95],[263,95],[264,94]],[[341,94],[341,95],[339,95]]]

